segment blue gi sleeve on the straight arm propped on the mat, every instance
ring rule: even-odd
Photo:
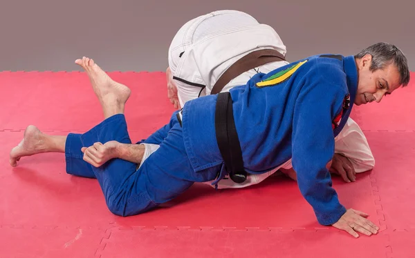
[[[332,121],[342,110],[344,96],[339,85],[315,79],[299,92],[294,109],[293,168],[300,192],[324,226],[334,224],[346,212],[326,168],[334,155]]]

